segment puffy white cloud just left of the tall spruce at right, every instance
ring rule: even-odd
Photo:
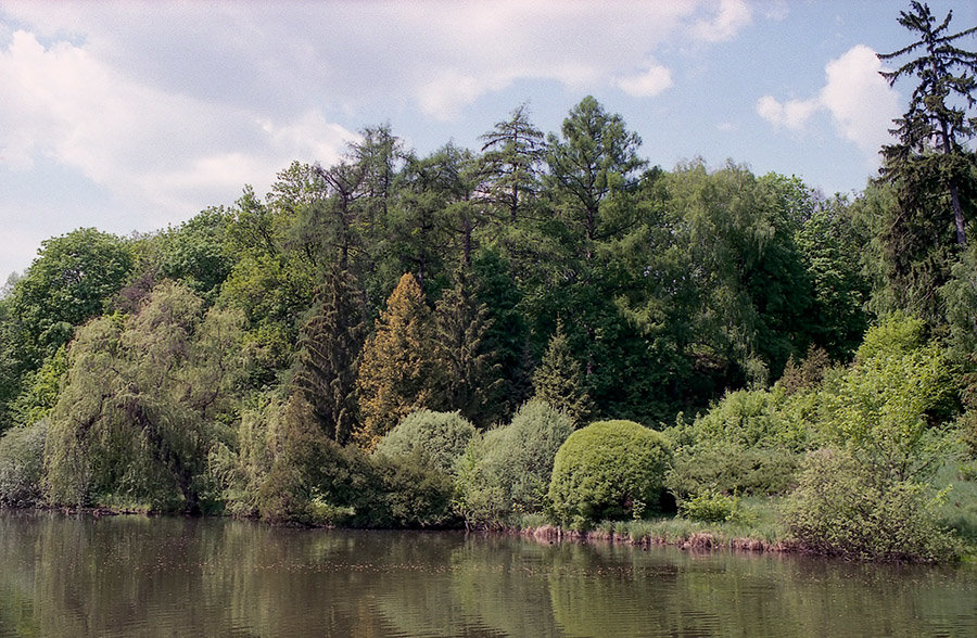
[[[774,127],[803,130],[811,116],[827,112],[842,138],[875,160],[899,115],[899,95],[878,75],[875,52],[858,44],[825,66],[825,86],[808,100],[779,102],[772,95],[757,101],[757,114]]]

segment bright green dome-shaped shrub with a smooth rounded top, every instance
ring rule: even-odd
[[[634,421],[598,421],[560,447],[549,499],[563,525],[585,529],[600,520],[639,515],[661,495],[672,452],[660,432]]]

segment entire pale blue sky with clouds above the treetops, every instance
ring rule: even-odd
[[[973,0],[931,0],[952,30]],[[418,154],[525,103],[558,133],[594,95],[672,169],[702,158],[825,194],[876,175],[913,86],[876,53],[909,1],[0,0],[0,282],[41,242],[128,235],[329,166],[389,123]],[[977,49],[977,38],[964,42]]]

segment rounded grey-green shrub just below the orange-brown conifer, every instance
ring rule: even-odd
[[[375,450],[389,458],[417,455],[421,465],[453,474],[475,429],[458,412],[410,412],[383,437]]]

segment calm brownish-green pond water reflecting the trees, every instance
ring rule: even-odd
[[[8,636],[977,636],[977,566],[0,511]]]

